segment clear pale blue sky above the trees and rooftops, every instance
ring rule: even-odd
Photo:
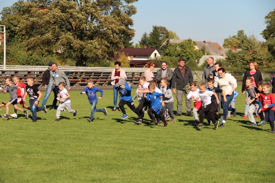
[[[16,0],[0,0],[0,9]],[[265,41],[260,33],[266,28],[265,16],[275,9],[274,0],[139,0],[134,3],[138,13],[132,16],[136,35],[134,44],[141,35],[152,31],[152,25],[164,26],[177,33],[180,39],[218,42],[229,35],[244,30],[254,32],[259,41]]]

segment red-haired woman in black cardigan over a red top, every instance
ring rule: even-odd
[[[254,62],[254,61],[252,61],[252,62],[249,62],[248,66],[249,66],[249,70],[247,70],[245,72],[244,78],[243,78],[243,84],[242,84],[242,95],[244,95],[244,92],[245,92],[245,97],[246,98],[248,97],[248,92],[245,91],[245,88],[246,88],[246,85],[245,85],[246,78],[251,77],[253,79],[252,86],[254,86],[255,88],[257,88],[257,83],[259,81],[262,82],[262,73],[261,73],[261,71],[257,70],[257,66],[258,66],[257,63]],[[250,100],[250,98],[248,99],[248,101],[249,100]],[[247,118],[248,108],[249,108],[248,101],[246,101],[246,103],[245,103],[244,116],[242,118]],[[258,117],[258,111],[256,111],[256,117]]]

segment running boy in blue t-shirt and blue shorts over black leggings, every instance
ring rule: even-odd
[[[148,89],[150,92],[148,93],[146,99],[151,100],[152,107],[150,109],[148,109],[148,115],[152,120],[151,124],[157,123],[155,116],[154,116],[154,114],[155,114],[158,118],[160,118],[163,121],[164,127],[166,127],[168,124],[168,121],[166,121],[165,119],[168,115],[168,109],[166,109],[165,111],[160,111],[160,105],[161,105],[160,96],[162,96],[163,99],[165,100],[165,95],[162,93],[155,92],[155,89],[156,89],[155,84],[149,84]]]

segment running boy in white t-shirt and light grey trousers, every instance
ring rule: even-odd
[[[74,116],[76,116],[77,110],[72,110],[71,109],[71,100],[70,100],[70,94],[68,93],[68,91],[65,88],[65,83],[64,82],[60,82],[58,84],[59,87],[59,93],[57,94],[57,98],[60,102],[57,111],[56,111],[56,119],[54,121],[59,121],[59,117],[60,117],[60,113],[61,110],[64,109],[64,107],[66,107],[66,109],[68,110],[69,113],[74,113]]]

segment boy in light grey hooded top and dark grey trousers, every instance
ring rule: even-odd
[[[171,117],[171,122],[175,122],[175,117],[174,117],[174,98],[172,95],[172,90],[169,86],[167,86],[168,84],[168,80],[166,78],[162,79],[160,81],[161,87],[160,87],[160,91],[165,95],[165,101],[164,101],[164,106],[162,106],[162,109],[168,109],[168,113],[169,116]]]

